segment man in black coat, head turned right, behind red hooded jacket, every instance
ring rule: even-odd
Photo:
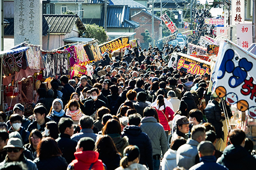
[[[70,137],[74,134],[73,121],[71,118],[61,118],[58,124],[60,136],[56,139],[58,147],[68,164],[75,159],[77,141]]]

